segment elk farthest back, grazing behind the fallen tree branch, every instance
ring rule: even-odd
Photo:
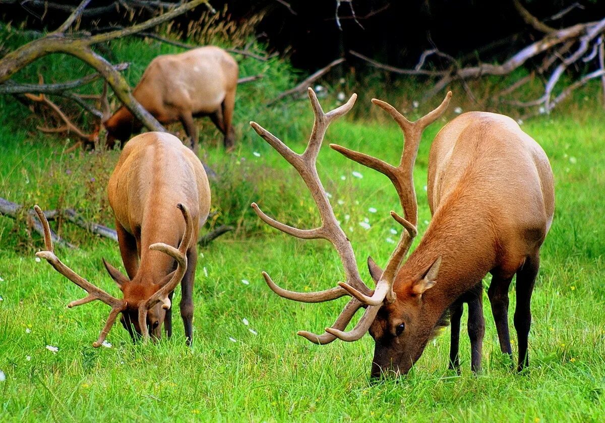
[[[224,135],[224,146],[234,146],[232,126],[238,65],[222,48],[206,46],[179,54],[155,57],[132,95],[161,123],[181,122],[197,151],[195,116],[209,116]],[[107,145],[122,143],[142,124],[122,106],[112,116],[106,111],[103,125]]]

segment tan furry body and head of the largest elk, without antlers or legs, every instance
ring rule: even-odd
[[[406,373],[448,307],[488,272],[494,275],[492,283],[509,283],[526,262],[538,265],[554,214],[551,166],[543,149],[514,120],[465,113],[433,141],[428,200],[433,220],[399,269],[393,287],[396,301],[383,306],[370,328],[376,339],[374,375]],[[438,257],[442,263],[436,284],[420,296],[415,286]],[[531,283],[531,295],[533,280],[522,283]],[[516,320],[515,315],[515,327]],[[404,332],[393,337],[401,323]]]

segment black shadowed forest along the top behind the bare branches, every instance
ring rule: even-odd
[[[31,29],[54,28],[78,3],[0,0],[0,17]],[[170,3],[180,2],[163,2]],[[522,3],[554,28],[605,16],[605,1]],[[140,8],[135,13],[115,4],[113,0],[93,1],[82,19],[87,27],[106,27],[142,21],[151,14],[151,9],[146,13]],[[350,50],[396,67],[413,67],[422,51],[430,48],[456,57],[460,64],[499,62],[543,36],[523,21],[512,0],[211,0],[211,4],[236,24],[262,16],[258,39],[269,50],[287,54],[293,66],[309,71],[342,56],[355,63]],[[196,8],[177,19],[175,27],[180,28],[183,39],[188,38],[189,22],[202,13],[207,13],[206,8]],[[433,64],[439,67],[439,59],[433,58]]]

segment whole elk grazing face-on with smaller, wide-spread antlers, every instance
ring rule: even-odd
[[[166,133],[145,133],[125,146],[107,188],[116,217],[123,275],[103,260],[107,271],[122,291],[112,297],[89,283],[54,255],[48,221],[36,206],[45,228],[45,258],[60,274],[88,292],[68,307],[99,300],[111,307],[107,323],[93,344],[99,347],[117,315],[133,341],[139,336],[154,339],[172,335],[172,291],[181,283],[180,311],[185,335],[193,335],[193,283],[197,262],[198,229],[210,210],[208,177],[195,154],[177,137]]]

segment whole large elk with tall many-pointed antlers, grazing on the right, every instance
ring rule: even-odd
[[[322,335],[300,331],[316,344],[336,338],[356,341],[366,332],[374,338],[371,375],[407,373],[440,327],[445,326],[452,307],[459,330],[460,307],[469,303],[469,327],[473,346],[473,369],[480,366],[483,338],[481,281],[488,273],[492,282],[488,295],[502,351],[511,355],[508,335],[508,287],[517,274],[517,308],[514,324],[518,335],[518,369],[528,365],[528,334],[531,323],[529,301],[539,266],[539,251],[554,213],[552,171],[545,152],[508,117],[492,113],[465,113],[446,125],[433,142],[429,159],[428,197],[433,220],[408,260],[401,265],[416,235],[417,203],[413,166],[424,129],[445,111],[442,104],[426,116],[409,122],[388,103],[372,100],[396,120],[404,132],[405,145],[399,166],[338,145],[330,145],[349,159],[373,168],[393,182],[405,218],[391,212],[403,227],[399,243],[384,272],[368,258],[374,290],[362,281],[350,243],[339,228],[316,171],[316,157],[327,126],[347,113],[353,97],[336,110],[324,113],[309,90],[315,124],[309,145],[296,154],[257,123],[250,123],[301,175],[321,215],[321,226],[302,230],[284,225],[264,214],[253,203],[259,217],[273,228],[295,237],[329,240],[338,251],[346,282],[321,292],[301,293],[277,286],[266,272],[263,276],[278,295],[290,300],[319,303],[345,295],[348,301],[332,327]],[[345,328],[355,312],[364,315],[350,331]],[[452,337],[450,359],[457,365],[457,333]]]

